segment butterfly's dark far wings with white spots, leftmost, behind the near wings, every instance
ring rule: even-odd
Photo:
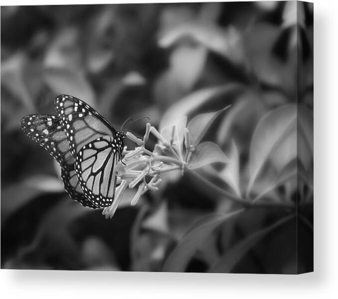
[[[75,161],[70,153],[66,134],[57,116],[47,114],[27,115],[21,119],[26,135],[46,149],[61,166],[61,178],[69,196],[83,206],[96,208],[83,194],[75,174]]]

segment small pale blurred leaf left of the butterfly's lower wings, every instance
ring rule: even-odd
[[[45,192],[62,192],[64,190],[61,179],[51,175],[34,175],[22,183]]]

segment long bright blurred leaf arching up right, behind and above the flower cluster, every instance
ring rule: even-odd
[[[162,130],[162,128],[174,124],[177,118],[189,115],[192,111],[201,107],[215,96],[224,94],[225,97],[228,93],[242,89],[243,86],[241,84],[234,83],[195,91],[182,98],[176,104],[173,104],[166,111],[166,113],[162,116],[159,128]]]

